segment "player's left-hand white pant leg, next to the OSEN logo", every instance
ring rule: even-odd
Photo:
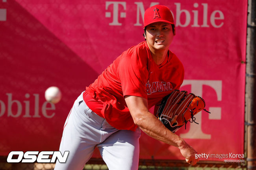
[[[96,144],[117,132],[117,129],[111,127],[107,129],[108,132],[102,133],[104,122],[104,118],[86,106],[80,95],[67,117],[59,147],[62,154],[69,151],[67,161],[59,163],[57,160],[54,170],[82,170],[93,155]]]

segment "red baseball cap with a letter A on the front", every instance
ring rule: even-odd
[[[154,22],[174,24],[173,15],[170,9],[164,5],[154,5],[149,7],[144,13],[144,27]]]

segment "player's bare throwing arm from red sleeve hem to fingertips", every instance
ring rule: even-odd
[[[186,158],[187,163],[195,165],[197,152],[189,146],[181,137],[171,132],[152,113],[148,111],[147,100],[142,97],[126,96],[126,104],[130,110],[134,123],[150,137],[173,145],[180,149],[180,153]]]

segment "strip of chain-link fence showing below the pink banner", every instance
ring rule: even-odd
[[[7,163],[6,157],[0,158],[0,170],[54,170],[54,163]],[[145,160],[139,161],[139,170],[246,170],[246,163],[199,161],[191,166],[185,161]],[[102,159],[92,158],[83,170],[108,170]]]

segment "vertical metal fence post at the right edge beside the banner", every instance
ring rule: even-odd
[[[256,2],[248,0],[246,85],[245,85],[245,146],[247,169],[256,170]]]

